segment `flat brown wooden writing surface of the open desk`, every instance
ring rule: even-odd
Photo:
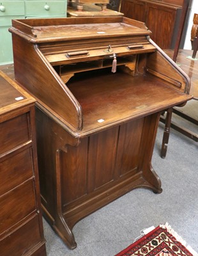
[[[155,113],[191,98],[150,74],[132,77],[122,72],[97,70],[76,77],[67,86],[82,106],[82,134]]]

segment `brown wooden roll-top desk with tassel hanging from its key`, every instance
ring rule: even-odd
[[[13,20],[10,31],[15,79],[37,99],[45,218],[75,248],[77,221],[134,188],[162,191],[158,121],[192,98],[189,79],[125,17]]]

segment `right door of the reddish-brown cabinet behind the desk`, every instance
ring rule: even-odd
[[[176,9],[148,4],[146,26],[152,31],[152,40],[162,49],[171,47],[176,20]]]

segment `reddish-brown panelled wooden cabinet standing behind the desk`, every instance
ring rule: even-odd
[[[183,0],[122,0],[121,13],[140,20],[152,31],[151,39],[162,49],[174,48]]]

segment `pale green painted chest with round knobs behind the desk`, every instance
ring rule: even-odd
[[[66,17],[66,0],[0,1],[0,65],[13,62],[11,20],[36,17]]]

